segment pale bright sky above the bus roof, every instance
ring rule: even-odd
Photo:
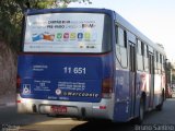
[[[175,0],[90,0],[71,8],[112,9],[152,41],[162,44],[170,60],[175,60]]]

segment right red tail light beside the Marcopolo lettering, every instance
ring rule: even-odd
[[[103,98],[110,98],[112,93],[113,93],[113,80],[112,80],[112,78],[104,79],[103,80],[103,85],[102,85],[102,97]]]

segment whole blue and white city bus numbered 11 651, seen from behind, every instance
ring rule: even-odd
[[[108,9],[30,9],[18,57],[23,114],[125,122],[161,110],[163,47]]]

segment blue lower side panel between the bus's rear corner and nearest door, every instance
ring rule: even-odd
[[[129,71],[116,70],[115,121],[127,121],[130,115]]]

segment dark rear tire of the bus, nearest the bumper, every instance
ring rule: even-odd
[[[139,117],[136,118],[136,123],[141,124],[144,119],[144,100],[143,98],[140,99],[140,106],[139,106]]]

